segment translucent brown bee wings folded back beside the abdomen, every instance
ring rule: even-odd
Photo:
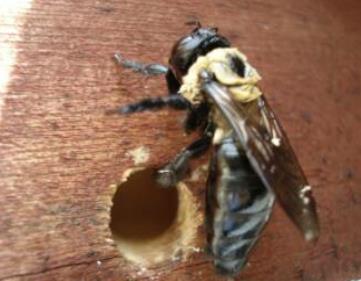
[[[310,186],[266,100],[261,96],[242,105],[235,102],[227,88],[216,81],[207,77],[203,82],[202,90],[234,130],[262,182],[276,193],[281,206],[305,239],[316,239],[319,223]]]

